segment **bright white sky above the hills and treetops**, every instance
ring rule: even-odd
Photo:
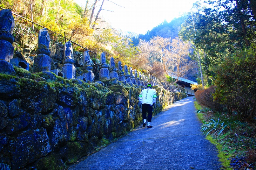
[[[117,5],[115,5],[114,3]],[[108,20],[112,27],[122,31],[145,34],[164,20],[170,22],[189,12],[196,0],[105,0],[100,16]],[[85,7],[86,0],[75,0]],[[102,1],[97,2],[97,14]],[[122,6],[122,7],[120,7]],[[113,12],[110,12],[112,10]]]

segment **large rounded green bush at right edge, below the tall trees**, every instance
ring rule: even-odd
[[[252,49],[238,51],[225,58],[216,67],[214,99],[228,106],[231,114],[255,116],[256,107],[256,52]]]

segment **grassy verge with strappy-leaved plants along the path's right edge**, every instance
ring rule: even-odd
[[[214,113],[196,101],[194,104],[198,118],[203,122],[201,131],[216,145],[222,169],[256,169],[255,122],[238,121],[236,114]]]

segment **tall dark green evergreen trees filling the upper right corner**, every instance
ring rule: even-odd
[[[221,64],[225,57],[250,44],[255,47],[256,22],[251,17],[249,2],[209,0],[210,7],[197,2],[182,24],[179,35],[183,40],[193,41],[195,51],[199,48],[204,74],[212,76],[212,80],[216,74],[214,66]]]

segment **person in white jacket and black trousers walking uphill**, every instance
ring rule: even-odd
[[[147,87],[148,88],[145,88],[141,91],[139,95],[139,102],[142,103],[142,127],[145,127],[147,125],[146,118],[148,112],[148,128],[151,128],[153,127],[152,125],[150,125],[150,123],[152,119],[153,105],[156,102],[156,91],[152,89],[153,86],[151,84],[148,84]]]

